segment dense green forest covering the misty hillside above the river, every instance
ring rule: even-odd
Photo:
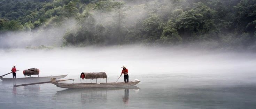
[[[0,0],[0,34],[76,21],[62,46],[196,45],[256,50],[256,0]]]

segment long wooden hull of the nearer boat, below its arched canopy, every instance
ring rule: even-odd
[[[65,83],[52,83],[57,87],[61,88],[108,88],[108,87],[127,87],[134,86],[140,83],[140,81],[130,81],[129,83],[75,83],[75,84],[65,84]]]

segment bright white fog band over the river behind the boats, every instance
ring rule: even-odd
[[[104,71],[116,79],[121,73],[120,67],[126,65],[129,74],[134,77],[153,73],[188,73],[196,77],[211,75],[238,81],[253,81],[252,77],[256,77],[256,74],[251,73],[256,70],[255,53],[201,51],[188,48],[112,46],[51,50],[5,49],[0,50],[0,60],[0,75],[10,72],[11,67],[17,65],[17,69],[22,71],[38,68],[40,76],[68,74],[79,78],[81,72]],[[17,73],[17,77],[23,77],[22,71]]]

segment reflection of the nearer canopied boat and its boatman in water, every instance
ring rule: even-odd
[[[86,88],[86,89],[65,89],[56,92],[56,100],[69,99],[71,102],[96,105],[97,103],[120,102],[124,105],[129,102],[130,94],[135,95],[140,90],[137,86],[116,87],[116,88]],[[122,100],[123,99],[123,100]],[[74,101],[78,100],[78,101]],[[121,103],[122,104],[122,103]]]

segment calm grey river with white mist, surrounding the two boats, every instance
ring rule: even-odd
[[[129,80],[141,80],[134,87],[98,89],[50,83],[13,87],[23,83],[0,80],[0,109],[255,109],[255,54],[165,49],[0,51],[0,75],[15,64],[21,70],[38,68],[40,76],[75,78],[63,83],[79,83],[81,72],[100,71],[115,82],[120,67],[127,65]],[[23,77],[22,72],[17,77]]]

